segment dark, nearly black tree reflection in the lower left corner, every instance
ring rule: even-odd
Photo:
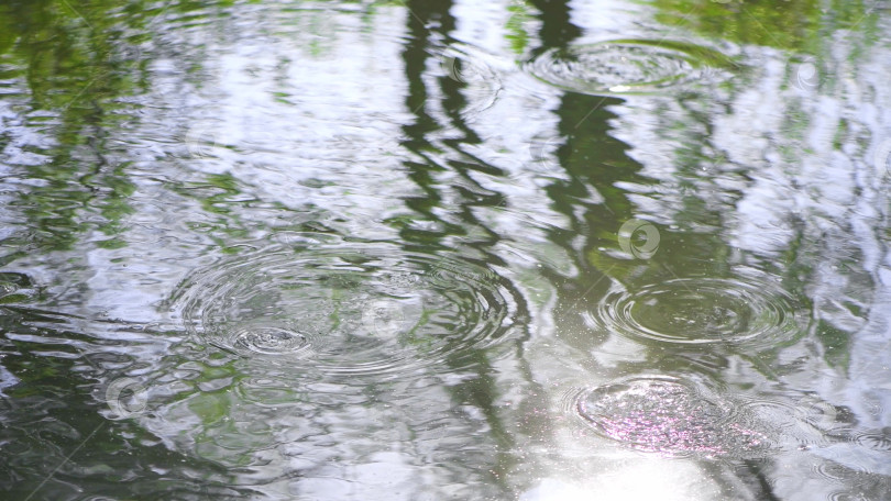
[[[20,285],[28,286],[24,279]],[[135,342],[143,334],[135,334],[130,325],[99,327],[127,332],[134,344],[157,343],[147,334]],[[23,330],[43,342],[10,338],[9,334]],[[55,347],[54,356],[44,352],[51,346],[46,343]],[[82,350],[89,352],[88,357],[79,354]],[[9,370],[19,380],[0,387],[0,442],[14,444],[14,449],[8,449],[14,454],[0,455],[3,499],[132,499],[163,490],[174,499],[234,500],[252,493],[233,487],[231,472],[219,465],[172,450],[132,421],[111,422],[103,415],[108,412],[101,396],[105,387],[94,378],[111,378],[116,370],[95,366],[110,360],[120,366],[132,359],[117,343],[85,333],[82,319],[0,304],[0,372]],[[88,366],[94,367],[85,370]],[[133,454],[134,447],[139,454]]]

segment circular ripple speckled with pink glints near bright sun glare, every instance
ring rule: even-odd
[[[736,407],[668,377],[640,377],[579,393],[573,411],[601,435],[671,456],[761,455],[767,437]]]

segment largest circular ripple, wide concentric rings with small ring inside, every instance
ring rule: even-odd
[[[243,356],[381,374],[457,360],[503,339],[515,304],[507,290],[475,264],[323,243],[222,260],[193,274],[174,304],[200,339]]]

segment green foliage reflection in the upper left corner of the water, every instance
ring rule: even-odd
[[[133,212],[128,198],[134,185],[127,165],[113,159],[125,152],[108,140],[131,111],[121,98],[150,88],[151,55],[142,44],[152,35],[143,29],[165,10],[197,7],[63,0],[0,7],[0,54],[16,67],[14,78],[26,84],[26,96],[13,99],[24,126],[45,143],[24,146],[46,159],[24,167],[29,177],[45,182],[23,190],[15,202],[38,246],[72,248],[90,226],[110,234],[123,230],[117,222]],[[85,212],[98,212],[107,223],[86,223]],[[121,245],[116,242],[99,245]]]

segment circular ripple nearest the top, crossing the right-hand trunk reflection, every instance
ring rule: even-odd
[[[547,84],[583,93],[647,92],[692,80],[713,79],[735,64],[698,45],[670,41],[616,40],[551,49],[529,65]]]

